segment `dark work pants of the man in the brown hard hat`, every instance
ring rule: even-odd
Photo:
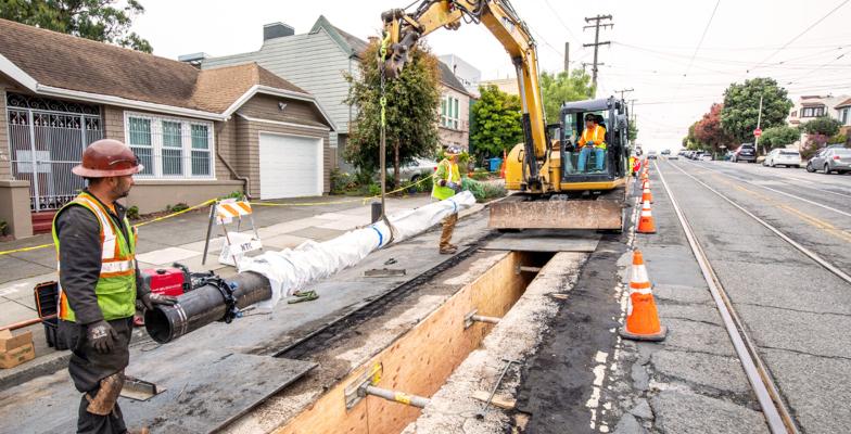
[[[74,381],[74,386],[84,394],[80,399],[77,433],[120,434],[127,431],[124,425],[122,410],[117,404],[113,412],[107,416],[92,414],[86,411],[86,408],[89,406],[86,393],[93,398],[100,390],[101,380],[123,371],[130,359],[129,345],[130,336],[132,335],[132,317],[112,320],[110,326],[115,329],[118,340],[115,342],[112,352],[100,354],[86,339],[86,326],[59,321],[59,336],[65,341],[68,348],[73,352],[68,362],[68,373]]]

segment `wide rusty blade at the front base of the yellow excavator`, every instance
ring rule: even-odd
[[[535,199],[515,194],[491,204],[493,229],[623,230],[626,201],[622,189],[596,200]]]

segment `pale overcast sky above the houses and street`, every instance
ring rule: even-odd
[[[410,1],[142,0],[147,11],[134,29],[157,55],[224,55],[259,49],[264,24],[283,22],[302,34],[320,14],[366,39],[379,34],[381,12]],[[634,89],[625,97],[636,100],[638,142],[658,150],[678,148],[688,126],[713,102],[723,102],[731,82],[771,76],[792,99],[851,94],[851,4],[846,3],[849,0],[512,2],[536,38],[541,68],[550,72],[563,67],[564,42],[571,44],[571,67],[590,62],[592,49],[582,43],[592,42],[594,34],[583,31],[584,18],[613,16],[614,27],[600,34],[601,41],[612,44],[599,51],[605,65],[597,94]],[[484,79],[513,77],[508,55],[482,25],[441,29],[426,41],[436,54],[454,53],[477,66]]]

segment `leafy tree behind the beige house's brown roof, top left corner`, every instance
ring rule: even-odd
[[[0,0],[0,18],[150,53],[151,43],[130,31],[143,12],[137,0]]]

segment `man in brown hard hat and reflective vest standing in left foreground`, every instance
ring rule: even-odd
[[[152,309],[174,297],[137,288],[136,233],[125,208],[142,165],[126,144],[98,140],[72,171],[88,188],[56,213],[59,337],[72,350],[68,372],[81,392],[77,433],[126,433],[116,404],[129,362],[137,298]],[[136,432],[147,432],[145,429]]]

